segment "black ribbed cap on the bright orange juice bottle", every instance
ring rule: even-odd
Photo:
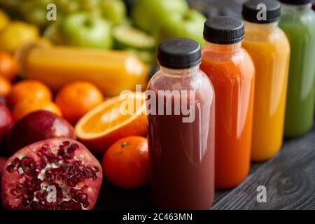
[[[244,23],[229,16],[210,18],[204,22],[204,39],[211,43],[232,44],[244,38]]]

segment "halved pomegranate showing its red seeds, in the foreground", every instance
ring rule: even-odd
[[[102,168],[90,151],[67,138],[46,139],[22,148],[3,169],[4,209],[93,209]]]

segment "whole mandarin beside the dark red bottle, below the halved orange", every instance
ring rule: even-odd
[[[116,141],[104,154],[102,167],[106,179],[118,188],[139,188],[148,183],[148,141],[126,137]]]

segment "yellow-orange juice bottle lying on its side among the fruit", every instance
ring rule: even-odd
[[[118,50],[95,50],[29,43],[16,54],[22,78],[41,80],[53,91],[76,80],[97,85],[106,97],[146,87],[149,68],[136,56]]]

